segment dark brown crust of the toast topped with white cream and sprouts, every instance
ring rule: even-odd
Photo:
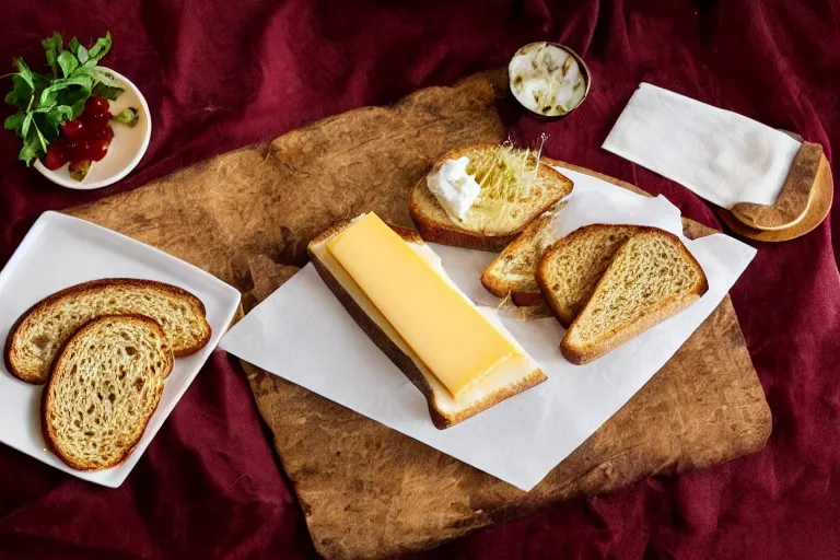
[[[492,149],[495,148],[495,144],[477,144],[477,145],[469,145],[465,148],[458,148],[456,150],[451,150],[443,154],[432,166],[432,170],[440,168],[441,165],[446,160],[453,160],[458,159],[465,153],[475,151],[475,150],[485,150],[485,149]],[[423,190],[425,189],[428,191],[429,187],[425,184],[425,176],[423,176],[416,185],[415,188],[411,189],[411,194],[409,195],[409,201],[408,201],[408,212],[411,214],[411,220],[415,222],[415,226],[417,228],[417,231],[420,233],[420,236],[430,243],[439,243],[441,245],[450,245],[453,247],[462,247],[465,249],[477,249],[477,250],[488,250],[493,253],[501,252],[504,247],[508,246],[513,240],[515,240],[520,233],[522,233],[525,228],[539,214],[551,208],[555,203],[557,203],[558,200],[563,198],[564,196],[568,196],[573,188],[573,183],[565,177],[563,174],[551,167],[548,162],[540,159],[540,161],[544,162],[542,165],[540,165],[540,174],[548,174],[549,176],[552,176],[556,180],[567,184],[568,190],[565,192],[560,192],[559,196],[556,198],[549,198],[544,205],[537,206],[534,208],[534,210],[529,213],[529,217],[525,220],[523,220],[522,228],[518,228],[516,231],[512,231],[504,235],[482,235],[480,233],[471,232],[468,230],[465,230],[464,228],[460,228],[458,224],[454,223],[452,220],[446,218],[446,221],[443,223],[438,222],[436,220],[430,219],[429,215],[427,215],[422,210],[421,205],[421,196],[423,195]],[[438,200],[432,196],[433,203],[440,206]]]

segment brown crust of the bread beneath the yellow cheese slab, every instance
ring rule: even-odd
[[[373,343],[375,343],[376,347],[382,350],[397,368],[399,368],[399,370],[420,390],[420,393],[422,393],[429,407],[429,416],[432,418],[432,423],[435,428],[439,430],[450,428],[451,425],[462,422],[467,418],[470,418],[481,412],[482,410],[486,410],[501,402],[502,400],[505,400],[506,398],[517,395],[523,390],[538,385],[548,378],[539,369],[536,369],[527,376],[520,380],[517,383],[494,392],[492,395],[489,395],[487,398],[475,402],[468,408],[459,410],[453,415],[444,415],[441,412],[435,402],[434,390],[432,389],[432,386],[429,385],[429,382],[425,380],[425,376],[417,366],[417,364],[408,354],[402,352],[402,350],[399,349],[399,347],[390,339],[390,337],[384,330],[382,330],[378,325],[376,325],[376,323],[364,312],[364,310],[362,310],[362,307],[359,306],[353,296],[343,289],[341,283],[329,271],[329,268],[318,258],[318,256],[313,250],[313,246],[326,243],[330,237],[339,233],[351,223],[352,220],[343,220],[338,222],[331,225],[308,244],[307,253],[312,259],[312,264],[315,266],[315,270],[317,270],[318,275],[324,280],[324,283],[327,284],[327,288],[329,288],[329,290],[335,294],[335,296],[338,299],[341,305],[343,305],[343,307],[347,310],[353,320],[355,320],[359,327],[364,331],[364,334],[370,337]],[[408,243],[423,242],[417,232],[412,230],[395,226],[392,224],[388,225]]]

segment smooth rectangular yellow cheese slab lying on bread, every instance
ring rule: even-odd
[[[454,397],[517,353],[376,214],[357,220],[327,250]]]

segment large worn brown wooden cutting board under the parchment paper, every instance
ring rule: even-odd
[[[419,91],[220,155],[68,211],[237,287],[247,310],[305,264],[306,243],[362,211],[411,226],[409,189],[445,151],[506,136],[505,73]],[[616,182],[625,188],[631,185]],[[686,222],[687,233],[710,230]],[[572,497],[760,450],[770,410],[728,299],[609,421],[523,492],[275,375],[243,364],[327,558],[397,555]]]

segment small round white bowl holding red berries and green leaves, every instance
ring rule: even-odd
[[[35,168],[42,175],[57,185],[79,190],[92,190],[112,185],[137,167],[149,148],[152,138],[152,120],[149,114],[149,105],[140,90],[125,75],[106,68],[125,90],[117,101],[109,102],[110,113],[118,115],[127,107],[135,107],[140,115],[137,125],[128,127],[119,122],[113,122],[114,139],[110,141],[108,153],[102,161],[93,162],[91,171],[83,180],[75,180],[70,176],[69,164],[65,164],[56,171],[49,171],[40,161],[35,162]]]

